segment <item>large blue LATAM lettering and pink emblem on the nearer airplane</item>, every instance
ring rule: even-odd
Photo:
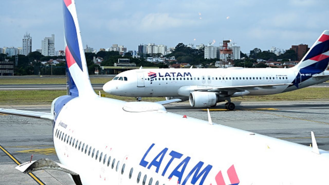
[[[152,149],[154,147],[154,143],[146,150],[144,156],[140,160],[139,165],[147,168],[147,169],[154,169],[156,173],[161,174],[162,176],[167,177],[169,180],[173,176],[176,176],[178,178],[177,184],[185,185],[186,183],[195,184],[197,181],[199,181],[199,185],[202,185],[208,176],[209,172],[212,170],[212,165],[204,165],[204,162],[199,161],[196,164],[190,164],[190,156],[186,156],[184,159],[182,158],[183,154],[177,152],[177,151],[168,151],[168,148],[164,148],[161,151],[159,150],[159,153],[157,155],[151,155],[149,154],[154,153],[155,149]],[[163,161],[164,157],[169,157],[169,161]],[[182,159],[183,160],[182,160]],[[172,162],[175,161],[180,162],[177,166],[172,166]],[[193,168],[187,168],[189,164],[189,167]],[[159,171],[163,169],[162,171]],[[173,169],[171,172],[167,171],[170,169]],[[174,168],[173,168],[174,167]],[[230,182],[232,185],[238,185],[240,183],[238,175],[235,171],[234,165],[232,165],[228,171],[227,171],[228,177],[230,179]],[[184,178],[183,178],[184,177]],[[219,171],[217,175],[215,176],[215,181],[217,185],[226,185],[224,182],[224,178],[222,175],[222,172]],[[212,184],[210,184],[212,185]]]

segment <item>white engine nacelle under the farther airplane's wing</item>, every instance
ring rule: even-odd
[[[217,103],[216,93],[194,91],[189,96],[190,105],[196,108],[214,106]]]

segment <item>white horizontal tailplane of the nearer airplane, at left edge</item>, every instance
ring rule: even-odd
[[[24,111],[24,110],[0,108],[0,113],[54,120],[54,116],[51,113],[46,113],[46,112]]]

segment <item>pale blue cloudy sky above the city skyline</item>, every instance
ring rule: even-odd
[[[232,40],[243,53],[272,46],[313,45],[329,29],[328,0],[76,0],[82,43],[97,51],[112,44],[138,50],[139,44],[213,44]],[[64,49],[60,0],[1,3],[0,47],[22,47],[25,33],[32,51],[55,34]]]

